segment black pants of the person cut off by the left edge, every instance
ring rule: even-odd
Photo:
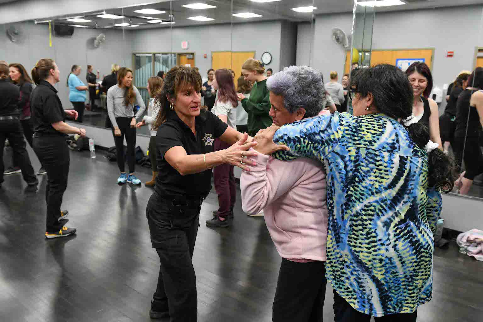
[[[18,118],[13,120],[0,120],[0,183],[3,182],[3,147],[5,139],[8,139],[10,146],[14,152],[14,160],[22,170],[22,176],[25,182],[33,183],[37,181],[33,172],[30,158],[28,157],[24,133]]]

